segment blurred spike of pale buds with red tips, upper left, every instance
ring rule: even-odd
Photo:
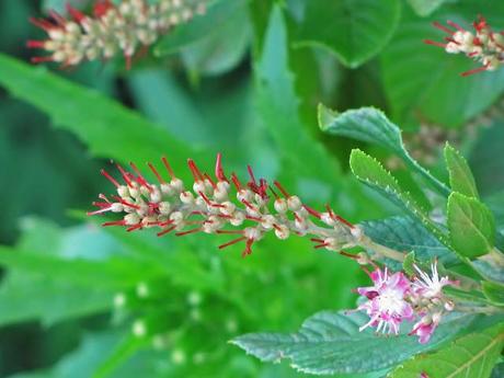
[[[195,14],[204,13],[207,0],[96,0],[93,15],[87,15],[67,4],[71,20],[55,11],[50,20],[31,21],[48,35],[46,41],[28,41],[27,46],[42,48],[48,56],[35,57],[34,62],[55,61],[76,66],[83,60],[110,59],[124,55],[127,68],[140,46],[153,44],[160,35]]]

